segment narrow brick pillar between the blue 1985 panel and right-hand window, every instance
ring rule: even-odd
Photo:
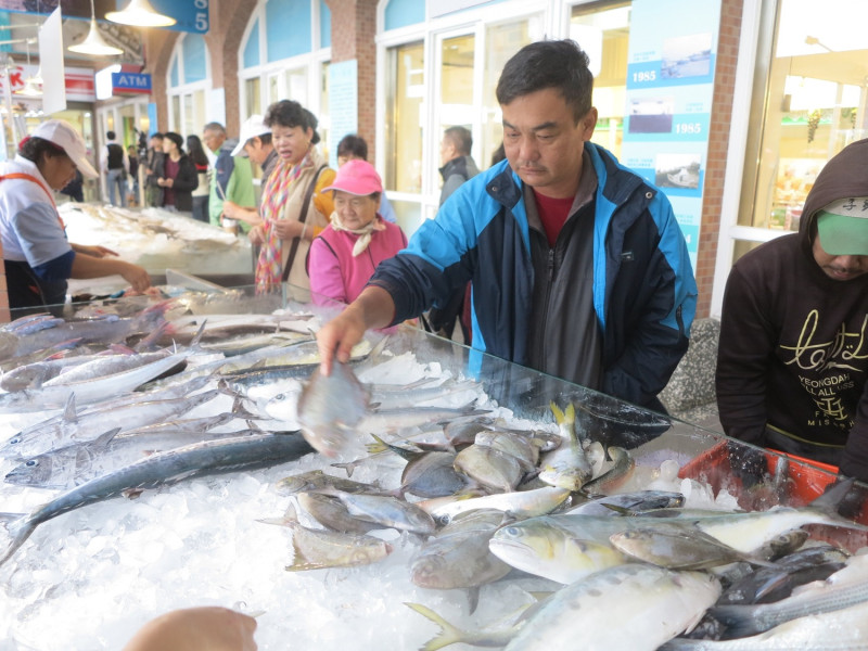
[[[711,312],[717,239],[720,232],[720,207],[724,200],[726,155],[729,146],[729,125],[732,118],[732,99],[736,88],[736,60],[741,38],[742,5],[743,0],[726,0],[720,8],[720,34],[712,99],[711,136],[705,162],[699,253],[694,269],[699,285],[697,318],[705,318]]]

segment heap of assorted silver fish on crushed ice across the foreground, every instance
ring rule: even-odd
[[[20,630],[36,635],[40,622],[58,618],[67,586],[74,586],[68,598],[76,603],[93,595],[91,585],[118,602],[117,590],[132,580],[136,590],[129,584],[122,609],[91,609],[103,625],[226,595],[226,605],[243,598],[269,611],[257,634],[261,648],[269,648],[265,640],[281,648],[289,631],[299,648],[317,640],[320,649],[346,648],[347,639],[355,640],[353,648],[384,648],[378,634],[398,640],[396,648],[425,649],[863,643],[856,641],[868,599],[863,557],[820,546],[803,529],[865,531],[832,510],[846,485],[807,508],[725,511],[725,496],[715,500],[707,487],[675,473],[664,477],[653,452],[603,446],[585,421],[577,423],[576,410],[587,405],[566,391],[552,396],[537,420],[516,418],[482,382],[436,361],[420,363],[388,339],[373,349],[360,347],[349,365],[324,379],[309,314],[212,315],[205,321],[180,317],[176,307],[81,321],[37,317],[0,331],[0,357],[15,359],[0,379],[7,392],[0,411],[8,427],[26,422],[0,448],[7,478],[0,510],[25,511],[7,518],[9,545],[0,549],[0,635],[18,641]],[[253,339],[277,330],[282,339]],[[423,336],[407,335],[411,342]],[[90,348],[80,363],[68,353],[58,355],[61,347],[78,352],[85,344]],[[25,355],[35,356],[30,363],[37,366],[26,367]],[[60,359],[66,363],[54,363]],[[648,418],[659,425],[659,418]],[[298,429],[304,436],[289,433]],[[288,469],[298,472],[288,475]],[[196,483],[203,475],[221,476]],[[110,499],[162,486],[170,488],[142,495],[136,519],[123,516],[131,508],[124,500]],[[22,490],[52,493],[43,506],[10,509],[29,495]],[[181,494],[180,513],[156,506]],[[58,518],[106,500],[114,506],[102,519],[76,524]],[[195,526],[188,525],[196,500],[204,511]],[[153,514],[141,509],[149,505]],[[148,562],[114,578],[123,570],[112,548],[123,551],[125,537],[157,523],[171,535],[136,548]],[[42,524],[42,536],[33,535]],[[221,540],[220,529],[234,532],[220,546],[229,549],[230,563],[217,547],[203,552],[193,546]],[[161,549],[159,569],[150,569]],[[175,558],[181,550],[183,560]],[[210,565],[207,557],[214,557]],[[270,572],[280,566],[290,572]],[[142,579],[162,586],[164,574],[176,583],[158,593],[171,592],[171,599],[136,600]],[[60,583],[39,585],[50,576]],[[345,582],[349,591],[342,593]],[[820,583],[799,587],[810,582]],[[382,615],[375,624],[350,614],[365,584],[375,586],[381,600],[372,607]],[[531,592],[540,591],[551,595],[528,605]],[[523,596],[522,604],[508,595]],[[293,608],[302,600],[305,608]],[[443,631],[426,642],[433,627],[401,602]],[[438,614],[451,609],[451,620],[456,608],[460,627]],[[314,623],[317,611],[331,635]],[[469,617],[476,617],[473,626]],[[344,621],[378,630],[342,638],[335,630]],[[835,622],[845,627],[839,630]],[[76,640],[68,648],[95,648],[95,641],[81,641],[93,637],[93,623],[81,626],[79,637],[64,627],[53,635]],[[824,628],[826,641],[818,633]],[[694,639],[673,640],[682,634]],[[845,634],[851,637],[838,637]],[[764,637],[746,642],[746,636]],[[115,639],[100,648],[119,646]]]

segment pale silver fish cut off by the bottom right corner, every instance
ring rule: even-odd
[[[676,638],[660,651],[865,651],[868,649],[868,603],[858,603],[791,620],[758,635],[735,640]]]

